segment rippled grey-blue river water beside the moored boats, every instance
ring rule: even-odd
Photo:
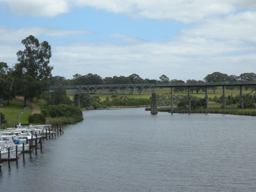
[[[84,112],[43,153],[4,162],[4,191],[256,191],[256,117]]]

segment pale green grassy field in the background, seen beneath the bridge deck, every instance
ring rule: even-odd
[[[162,95],[164,93],[171,93],[171,88],[166,88],[166,89],[155,89],[155,92],[156,94],[159,94],[159,95]],[[247,94],[251,91],[245,91],[243,90],[243,94]],[[225,95],[228,96],[228,95],[240,95],[240,90],[225,90]],[[71,100],[74,100],[74,95],[75,93],[72,92],[72,93],[67,93],[67,96],[71,99]],[[103,100],[106,100],[106,97],[111,97],[112,94],[110,93],[98,93],[98,94],[91,94],[91,96],[99,96],[100,99],[103,101]],[[128,98],[149,98],[151,97],[151,92],[142,92],[141,94],[139,93],[133,93],[133,94],[129,94],[129,93],[124,93],[124,94],[121,94],[121,93],[118,93],[118,97],[121,97],[121,96],[126,96]],[[188,95],[188,92],[173,92],[173,95]],[[202,92],[201,90],[198,92],[198,93],[191,93],[190,92],[190,95],[191,96],[196,96],[196,97],[201,97],[201,98],[204,98],[205,97],[205,92]],[[222,95],[222,89],[221,87],[217,87],[217,89],[215,90],[215,94],[213,94],[213,90],[208,90],[208,98],[214,98],[214,96],[216,97],[220,97]]]

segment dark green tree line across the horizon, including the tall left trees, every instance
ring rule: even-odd
[[[18,95],[24,97],[24,106],[26,106],[26,100],[33,102],[34,98],[43,98],[47,100],[49,105],[72,104],[65,90],[61,88],[54,91],[53,94],[47,92],[50,85],[185,83],[183,80],[170,80],[166,75],[160,76],[159,80],[143,79],[137,74],[105,78],[92,73],[88,73],[87,75],[75,74],[72,79],[66,79],[62,76],[52,76],[53,67],[49,65],[52,56],[50,44],[47,41],[40,43],[38,39],[32,35],[23,39],[21,43],[25,46],[25,49],[16,53],[17,63],[8,66],[6,62],[0,62],[0,98],[3,98],[3,100],[7,102],[7,105],[10,105],[11,100]],[[188,79],[186,83],[235,81],[256,81],[256,74],[243,73],[240,76],[228,76],[227,74],[214,72],[206,75],[203,80]],[[235,89],[236,87],[228,88]],[[247,86],[246,88],[250,87]],[[192,93],[198,93],[201,89],[201,87],[190,88]],[[216,88],[212,87],[212,89],[215,92]],[[186,91],[186,88],[174,88],[173,90],[174,92],[183,93]],[[88,98],[84,98],[84,100],[86,99],[89,100]],[[125,100],[127,103],[128,99]],[[95,102],[95,100],[93,100],[92,103],[93,102]],[[108,105],[107,103],[105,104]],[[136,103],[134,103],[134,105],[136,105]]]

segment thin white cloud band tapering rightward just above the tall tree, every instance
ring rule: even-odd
[[[61,29],[61,28],[47,28],[47,27],[26,27],[21,29],[0,27],[0,41],[4,44],[16,44],[20,43],[22,39],[25,39],[29,35],[33,35],[37,38],[40,36],[48,37],[67,37],[67,36],[87,36],[96,34],[89,30],[73,30],[73,29]]]

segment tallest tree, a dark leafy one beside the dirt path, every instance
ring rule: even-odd
[[[48,87],[44,81],[52,75],[53,67],[48,65],[52,52],[47,41],[39,43],[32,35],[23,39],[21,43],[25,49],[16,53],[19,63],[15,64],[14,72],[19,82],[24,83],[20,94],[24,95],[24,106],[26,106],[28,98],[33,101],[33,97],[39,96]]]

